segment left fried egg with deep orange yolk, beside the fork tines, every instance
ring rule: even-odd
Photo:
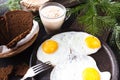
[[[42,62],[50,62],[53,66],[64,62],[70,54],[70,50],[60,40],[48,39],[44,41],[37,51],[37,59]]]

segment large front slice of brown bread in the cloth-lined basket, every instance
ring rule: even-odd
[[[16,10],[7,12],[5,18],[10,37],[7,47],[11,48],[31,31],[33,16],[30,12]]]

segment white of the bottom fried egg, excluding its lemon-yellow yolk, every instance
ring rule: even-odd
[[[85,68],[92,67],[100,73],[100,80],[110,80],[110,72],[100,72],[95,60],[90,56],[74,58],[55,66],[50,75],[50,80],[83,80],[82,72]]]

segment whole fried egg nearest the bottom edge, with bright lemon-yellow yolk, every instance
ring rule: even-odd
[[[54,67],[50,80],[110,80],[110,72],[101,72],[90,56],[74,57]]]

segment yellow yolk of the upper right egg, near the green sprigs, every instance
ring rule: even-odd
[[[92,49],[101,47],[100,40],[94,36],[88,36],[85,39],[85,42],[86,42],[87,46]]]

